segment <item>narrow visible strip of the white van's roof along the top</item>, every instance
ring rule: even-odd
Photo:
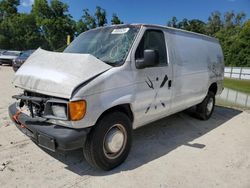
[[[168,29],[168,30],[172,30],[172,31],[178,31],[178,32],[182,32],[182,33],[188,33],[188,34],[192,34],[192,35],[196,35],[196,36],[200,36],[201,38],[206,38],[206,39],[210,39],[212,41],[218,42],[218,39],[208,36],[208,35],[204,35],[201,33],[195,33],[192,31],[186,31],[183,29],[177,29],[174,27],[168,27],[168,26],[162,26],[162,25],[157,25],[157,24],[144,24],[144,23],[133,23],[133,24],[119,24],[120,26],[144,26],[144,27],[155,27],[155,28],[159,28],[159,29]],[[112,25],[112,26],[119,26],[119,25]]]

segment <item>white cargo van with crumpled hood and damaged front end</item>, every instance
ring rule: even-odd
[[[191,106],[207,120],[223,71],[214,38],[145,24],[97,28],[63,53],[35,51],[15,75],[24,92],[9,114],[39,146],[83,148],[110,170],[128,156],[133,129]]]

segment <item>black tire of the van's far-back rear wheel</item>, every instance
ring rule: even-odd
[[[208,105],[212,104],[212,107],[208,107]],[[201,120],[208,120],[214,111],[214,105],[215,105],[215,94],[211,91],[208,92],[206,98],[196,106],[196,113],[198,115],[198,118]]]

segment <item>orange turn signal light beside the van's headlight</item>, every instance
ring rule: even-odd
[[[81,101],[72,101],[69,102],[69,117],[71,121],[81,120],[87,109],[87,103],[85,100]]]

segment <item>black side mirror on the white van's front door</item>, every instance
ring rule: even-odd
[[[144,69],[146,67],[154,67],[159,64],[159,54],[156,50],[144,50],[144,58],[137,59],[135,66],[138,69]]]

